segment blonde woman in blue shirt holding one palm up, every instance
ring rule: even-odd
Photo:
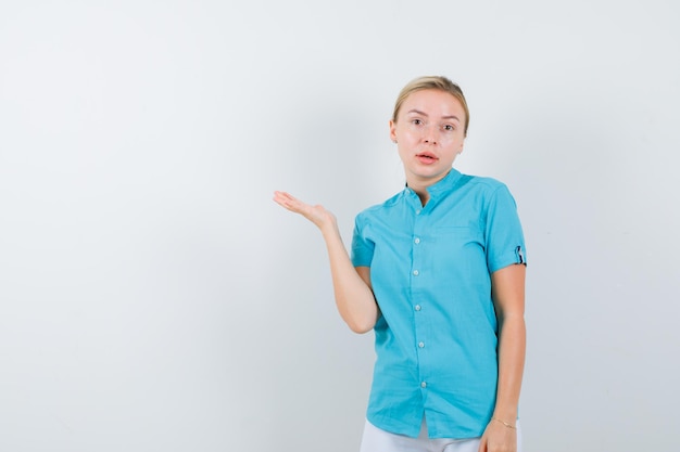
[[[518,450],[524,235],[504,184],[452,168],[468,124],[448,78],[404,87],[390,137],[406,186],[357,215],[351,258],[331,212],[275,193],[320,230],[342,319],[375,331],[362,452]]]

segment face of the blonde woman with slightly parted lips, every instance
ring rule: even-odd
[[[441,180],[463,151],[465,111],[448,92],[420,90],[401,105],[396,122],[390,121],[390,138],[396,142],[414,190]]]

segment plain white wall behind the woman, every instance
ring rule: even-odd
[[[0,2],[0,450],[356,450],[373,335],[270,197],[349,243],[401,189],[387,121],[425,74],[470,103],[457,167],[519,205],[525,450],[676,450],[679,13]]]

